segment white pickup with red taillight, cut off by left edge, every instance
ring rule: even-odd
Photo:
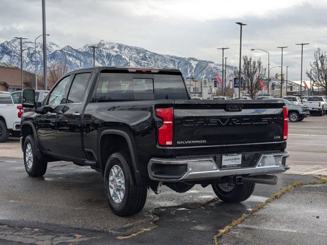
[[[21,104],[14,104],[9,92],[0,91],[0,142],[7,141],[10,133],[19,135],[22,112]]]

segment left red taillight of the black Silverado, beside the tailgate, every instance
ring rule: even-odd
[[[157,117],[162,119],[162,126],[158,129],[158,143],[160,145],[173,145],[173,114],[174,109],[158,108]]]

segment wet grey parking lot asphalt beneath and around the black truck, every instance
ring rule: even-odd
[[[251,198],[241,204],[225,204],[215,200],[215,194],[210,186],[206,188],[195,186],[186,193],[176,193],[164,187],[159,195],[149,190],[144,210],[132,217],[118,217],[111,212],[106,204],[102,176],[89,167],[80,167],[68,162],[54,162],[49,163],[44,177],[30,178],[25,173],[22,159],[4,157],[2,154],[6,150],[3,150],[2,146],[8,143],[0,143],[2,167],[0,243],[213,244],[213,237],[219,229],[243,213],[251,212],[256,205],[264,203],[282,187],[295,180],[309,183],[314,180],[311,175],[326,173],[327,153],[324,150],[327,145],[326,121],[325,115],[312,116],[302,122],[290,123],[288,150],[291,156],[287,162],[291,165],[291,169],[288,174],[278,175],[276,186],[256,185]],[[12,141],[14,140],[16,139],[13,138]],[[16,143],[17,147],[19,147],[18,143]],[[282,224],[283,226],[290,227],[294,222],[299,222],[299,217],[308,219],[305,215],[311,215],[314,211],[326,213],[326,186],[312,188],[312,193],[308,193],[310,192],[308,188],[296,187],[297,192],[294,193],[297,195],[292,196],[290,200],[286,199],[288,201],[283,204],[288,204],[288,208],[278,209],[278,205],[272,206],[275,202],[284,200],[283,196],[281,200],[269,203],[264,209],[244,220],[241,225],[247,224],[248,220],[252,222],[248,227],[237,226],[230,232],[238,232],[234,231],[235,229],[246,229],[248,232],[252,229],[253,236],[258,236],[260,240],[260,231],[263,230],[262,239],[268,239],[269,233],[273,235],[272,231],[277,232],[271,229],[279,227],[282,222],[285,223]],[[285,194],[285,198],[290,195],[293,195],[293,192]],[[299,201],[301,197],[304,201],[313,199],[317,195],[319,195],[317,200],[320,200],[321,195],[324,202],[315,201],[317,203],[306,206],[306,203]],[[293,211],[295,206],[296,212]],[[306,211],[306,208],[310,210]],[[302,216],[297,214],[301,210]],[[284,218],[285,213],[288,218],[286,216]],[[255,220],[254,218],[259,214],[266,215],[262,216],[266,219]],[[325,226],[325,217],[323,214],[320,217],[319,220],[324,222]],[[267,224],[271,223],[273,228],[270,230],[253,228],[258,226],[257,223],[263,224],[264,220],[268,222]],[[309,223],[310,220],[303,224],[312,226],[312,229],[318,225]],[[317,233],[320,234],[319,229],[322,227],[317,227]],[[302,232],[298,228],[293,230]],[[301,232],[299,233],[305,234]],[[291,234],[295,236],[294,232]],[[220,243],[237,243],[236,240],[227,240],[228,235],[229,233],[220,237]],[[245,234],[240,235],[244,235],[240,239],[244,239],[247,244],[252,244],[251,240],[246,240]],[[225,237],[226,240],[223,240]],[[321,238],[320,235],[318,237]],[[285,243],[297,244],[296,241],[290,240]]]

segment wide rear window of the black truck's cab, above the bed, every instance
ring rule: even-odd
[[[142,78],[144,76],[144,78]],[[95,95],[101,100],[188,100],[180,75],[102,73]]]

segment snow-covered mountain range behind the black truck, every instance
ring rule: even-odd
[[[196,58],[183,58],[171,55],[161,55],[142,47],[128,46],[101,40],[98,43],[86,44],[75,49],[71,46],[59,47],[53,42],[47,43],[48,64],[65,62],[69,70],[91,67],[93,51],[90,45],[96,45],[96,65],[100,66],[131,66],[160,67],[180,69],[184,78],[194,75],[195,79],[210,80],[215,74],[221,75],[221,64]],[[23,66],[25,70],[35,72],[34,42],[23,42]],[[12,39],[0,44],[0,62],[20,66],[20,41]],[[43,70],[42,43],[36,43],[36,65],[38,72]],[[227,74],[237,67],[227,65]]]

